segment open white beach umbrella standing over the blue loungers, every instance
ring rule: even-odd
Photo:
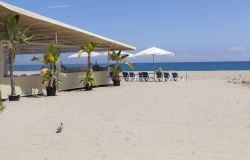
[[[141,51],[139,53],[136,53],[134,56],[152,56],[153,57],[153,63],[155,63],[155,56],[156,55],[171,55],[174,56],[174,53],[157,48],[157,47],[151,47],[149,49],[146,49],[144,51]],[[154,79],[155,79],[155,70],[154,70]]]

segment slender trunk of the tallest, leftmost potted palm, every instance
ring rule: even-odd
[[[15,82],[14,82],[14,58],[15,58],[15,49],[9,50],[9,69],[10,69],[10,86],[11,86],[11,95],[16,95]]]

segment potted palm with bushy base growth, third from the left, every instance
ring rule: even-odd
[[[91,53],[94,51],[95,47],[98,45],[98,43],[90,42],[85,45],[85,47],[81,46],[80,50],[78,52],[79,57],[82,53],[87,52],[88,54],[88,70],[87,73],[81,76],[81,82],[83,82],[85,86],[85,90],[89,91],[92,90],[94,84],[96,83],[95,75],[92,73],[92,67],[91,67]]]

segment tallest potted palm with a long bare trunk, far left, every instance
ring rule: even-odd
[[[19,15],[8,15],[4,21],[5,35],[3,36],[3,45],[9,50],[8,53],[8,64],[9,64],[9,76],[11,94],[9,95],[10,101],[18,101],[20,95],[16,94],[15,82],[14,82],[14,63],[16,57],[16,48],[19,44],[27,44],[29,40],[33,38],[29,35],[29,27],[18,26]]]

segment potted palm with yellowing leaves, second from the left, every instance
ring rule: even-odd
[[[57,75],[59,74],[57,65],[60,63],[59,48],[57,48],[54,43],[51,42],[48,46],[47,52],[44,53],[43,58],[33,57],[32,61],[42,62],[46,66],[40,71],[42,83],[47,84],[47,96],[55,96],[57,83],[59,81],[57,79]]]

